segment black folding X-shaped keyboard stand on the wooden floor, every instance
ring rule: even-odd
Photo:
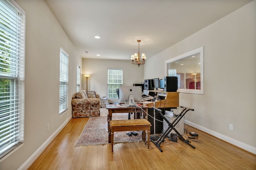
[[[188,107],[183,107],[183,106],[180,106],[182,109],[182,111],[180,112],[180,114],[174,119],[174,121],[172,121],[172,123],[170,123],[168,121],[168,119],[166,119],[166,117],[163,115],[162,113],[162,110],[156,108],[156,107],[152,107],[153,109],[155,109],[160,115],[161,117],[168,123],[168,128],[166,129],[166,131],[164,131],[164,133],[161,135],[161,137],[157,140],[157,141],[154,141],[151,139],[151,141],[156,145],[156,147],[158,147],[158,149],[163,152],[163,150],[160,148],[160,145],[161,143],[164,141],[164,139],[168,136],[168,134],[174,130],[177,135],[180,137],[180,139],[182,141],[184,141],[185,143],[187,143],[188,145],[190,145],[190,147],[192,147],[193,149],[195,149],[195,147],[193,145],[191,145],[188,141],[186,141],[186,139],[184,139],[182,137],[182,135],[180,135],[180,133],[175,129],[175,126],[177,125],[177,123],[180,121],[180,119],[182,119],[182,117],[189,111],[189,110],[192,110],[194,111],[194,109],[190,109]]]

